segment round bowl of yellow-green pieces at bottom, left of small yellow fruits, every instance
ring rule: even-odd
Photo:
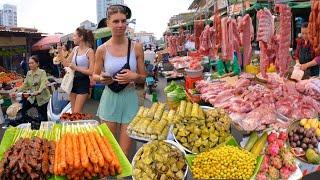
[[[184,154],[166,141],[143,145],[132,164],[133,178],[136,180],[184,179],[187,170]]]

